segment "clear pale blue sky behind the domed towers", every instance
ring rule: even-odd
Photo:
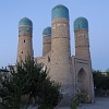
[[[43,31],[51,26],[51,10],[57,4],[69,9],[71,50],[74,55],[73,22],[78,16],[88,20],[92,65],[109,68],[109,0],[0,0],[0,68],[16,62],[19,21],[33,21],[34,56],[41,56]]]

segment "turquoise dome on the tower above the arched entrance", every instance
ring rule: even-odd
[[[88,29],[88,21],[85,17],[77,17],[74,21],[74,31]]]

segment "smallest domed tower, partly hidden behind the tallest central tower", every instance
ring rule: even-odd
[[[51,27],[46,27],[43,32],[43,56],[46,56],[51,50]]]

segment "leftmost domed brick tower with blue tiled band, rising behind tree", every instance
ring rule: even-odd
[[[33,23],[24,17],[19,22],[17,62],[25,61],[26,57],[33,59]]]

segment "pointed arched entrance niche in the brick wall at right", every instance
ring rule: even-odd
[[[87,74],[82,68],[77,73],[77,90],[87,94]]]

